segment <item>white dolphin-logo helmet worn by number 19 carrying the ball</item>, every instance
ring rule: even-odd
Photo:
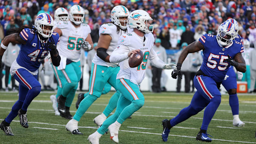
[[[129,28],[137,28],[144,33],[154,31],[154,25],[148,25],[149,21],[153,21],[153,19],[144,10],[135,10],[128,17]]]

